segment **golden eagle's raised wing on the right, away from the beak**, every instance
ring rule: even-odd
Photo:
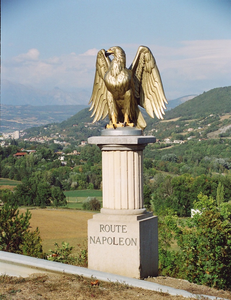
[[[137,103],[146,109],[150,117],[154,118],[154,112],[158,119],[163,119],[162,114],[164,115],[166,109],[164,103],[168,102],[150,49],[140,46],[129,69],[133,74]]]

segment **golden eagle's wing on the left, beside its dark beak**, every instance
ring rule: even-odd
[[[108,115],[108,104],[106,100],[107,88],[103,78],[105,73],[108,71],[110,64],[111,59],[106,57],[105,50],[101,49],[97,54],[95,80],[89,101],[89,104],[92,102],[89,111],[94,108],[93,113],[91,114],[91,117],[95,114],[93,123],[99,121],[101,117],[104,119]]]

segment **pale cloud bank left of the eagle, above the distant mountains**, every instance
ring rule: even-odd
[[[31,49],[3,63],[2,78],[41,89],[58,86],[68,90],[93,85],[96,57],[92,54],[76,55],[72,52],[60,57],[36,60],[36,53],[39,54],[37,49]]]

